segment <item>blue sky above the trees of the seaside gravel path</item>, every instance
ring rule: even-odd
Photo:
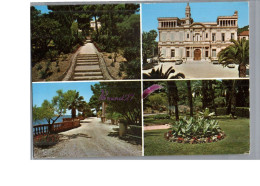
[[[90,97],[93,95],[90,86],[96,83],[97,82],[33,83],[33,105],[41,106],[45,99],[51,101],[52,98],[57,95],[56,91],[59,89],[62,89],[63,92],[76,90],[84,97],[85,101],[89,102]],[[70,111],[67,110],[66,114],[70,114]]]

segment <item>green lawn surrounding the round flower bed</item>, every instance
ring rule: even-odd
[[[243,154],[249,152],[249,119],[218,119],[226,133],[225,139],[204,144],[169,142],[163,135],[168,130],[144,132],[144,155],[208,155]]]

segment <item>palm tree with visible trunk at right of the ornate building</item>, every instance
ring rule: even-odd
[[[232,39],[231,42],[232,45],[218,53],[219,63],[224,66],[238,64],[239,77],[246,77],[246,65],[249,64],[249,41]]]

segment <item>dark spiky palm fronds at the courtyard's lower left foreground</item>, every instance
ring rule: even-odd
[[[176,75],[170,76],[170,74],[175,73],[173,67],[170,67],[165,73],[162,72],[163,65],[157,70],[153,69],[148,74],[143,74],[144,79],[184,79],[185,75],[183,73],[178,73]]]

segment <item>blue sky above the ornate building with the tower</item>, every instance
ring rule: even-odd
[[[142,4],[142,30],[157,31],[158,17],[185,17],[187,3]],[[190,3],[194,22],[216,22],[218,16],[233,15],[238,11],[238,27],[249,24],[248,2],[207,2]]]

